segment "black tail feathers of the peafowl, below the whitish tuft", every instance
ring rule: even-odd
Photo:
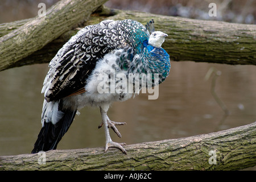
[[[34,144],[32,154],[39,151],[55,150],[63,135],[68,131],[77,110],[62,110],[63,117],[55,125],[51,122],[44,122],[44,127],[40,130],[38,139]]]

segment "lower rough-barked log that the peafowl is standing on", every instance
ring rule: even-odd
[[[125,149],[127,155],[98,147],[1,156],[0,170],[244,169],[256,165],[256,122],[217,133],[131,144]]]

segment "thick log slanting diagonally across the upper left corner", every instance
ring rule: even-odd
[[[45,16],[36,16],[26,23],[19,21],[17,26],[24,24],[18,28],[13,25],[14,30],[0,38],[0,70],[16,67],[19,60],[84,22],[105,2],[106,0],[62,0],[49,8]],[[4,25],[2,27],[6,28]]]

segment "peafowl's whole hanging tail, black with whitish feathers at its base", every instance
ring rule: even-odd
[[[63,135],[68,131],[77,110],[63,109],[62,101],[44,101],[42,129],[34,144],[32,154],[39,151],[55,150]]]

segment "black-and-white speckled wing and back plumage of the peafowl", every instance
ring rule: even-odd
[[[125,47],[139,51],[149,36],[146,28],[134,20],[105,20],[82,28],[49,63],[42,89],[47,102],[67,97],[78,90],[81,93],[86,78],[106,53]]]

